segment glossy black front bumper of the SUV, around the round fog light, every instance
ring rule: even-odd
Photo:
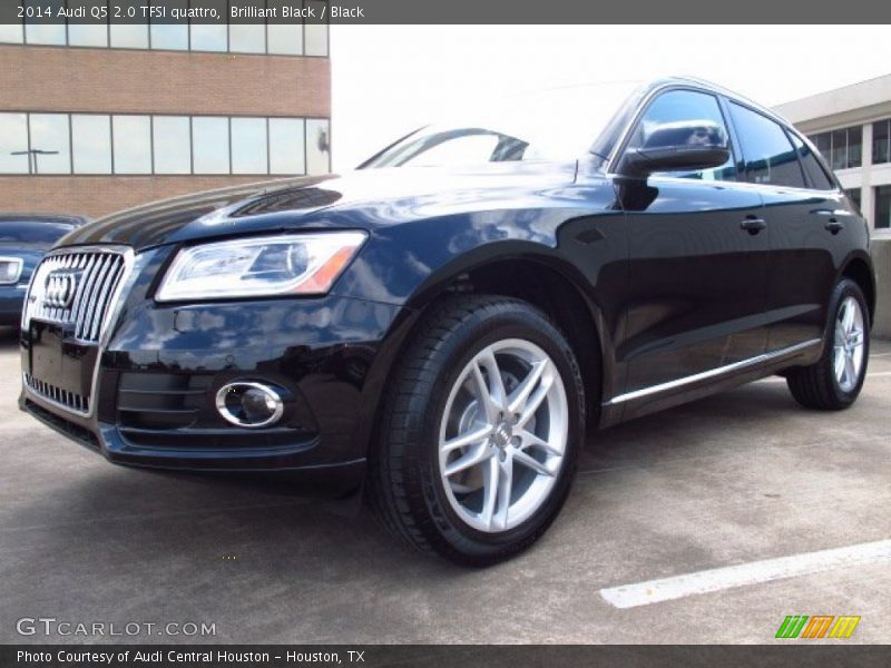
[[[144,289],[137,278],[106,343],[60,346],[62,356],[98,360],[89,411],[27,383],[20,407],[117,464],[361,482],[362,416],[379,394],[368,379],[399,306],[335,295],[158,305]],[[267,429],[226,422],[215,396],[235,380],[286,390],[282,420]]]

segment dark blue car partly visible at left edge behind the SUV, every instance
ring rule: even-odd
[[[31,273],[47,250],[86,223],[80,216],[0,214],[0,325],[18,325]]]

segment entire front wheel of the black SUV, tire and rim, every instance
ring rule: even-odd
[[[401,357],[370,455],[374,513],[404,542],[461,566],[531,546],[569,493],[585,433],[581,374],[564,335],[518,299],[449,297]]]

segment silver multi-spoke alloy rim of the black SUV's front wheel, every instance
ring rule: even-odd
[[[550,495],[568,434],[566,387],[550,356],[519,338],[487,346],[459,374],[441,419],[452,510],[487,533],[521,524]]]

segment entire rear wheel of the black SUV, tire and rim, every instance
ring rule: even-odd
[[[840,411],[854,403],[866,377],[870,313],[863,291],[850,278],[843,278],[832,291],[829,313],[823,355],[810,366],[790,369],[786,384],[804,407]],[[849,315],[853,325],[845,332],[843,320]]]

